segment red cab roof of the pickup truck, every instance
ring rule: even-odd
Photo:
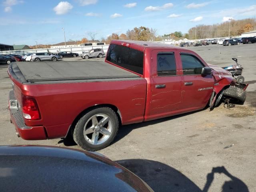
[[[144,51],[145,48],[172,48],[172,49],[179,49],[179,50],[185,49],[185,48],[181,48],[181,47],[170,45],[170,44],[150,42],[150,41],[112,40],[111,43],[118,44],[118,45],[121,45],[122,43],[129,44],[130,48],[134,48],[140,51]]]

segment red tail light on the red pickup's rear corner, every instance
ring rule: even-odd
[[[22,112],[25,119],[39,120],[41,118],[36,100],[22,95]]]

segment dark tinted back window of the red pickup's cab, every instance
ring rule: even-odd
[[[110,44],[106,60],[138,74],[143,74],[143,57],[144,54],[141,51]]]

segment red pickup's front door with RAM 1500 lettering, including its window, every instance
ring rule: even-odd
[[[206,62],[190,50],[179,50],[178,62],[182,67],[182,109],[185,112],[204,108],[214,88],[212,74],[198,74],[200,69],[207,66]]]

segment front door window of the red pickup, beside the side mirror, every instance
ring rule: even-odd
[[[194,75],[197,74],[198,68],[203,68],[202,62],[193,55],[181,54],[183,75]]]

